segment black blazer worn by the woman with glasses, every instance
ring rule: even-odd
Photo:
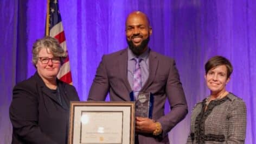
[[[14,87],[10,105],[12,143],[67,143],[69,102],[79,101],[79,97],[74,86],[57,83],[66,107],[49,92],[37,72]]]

